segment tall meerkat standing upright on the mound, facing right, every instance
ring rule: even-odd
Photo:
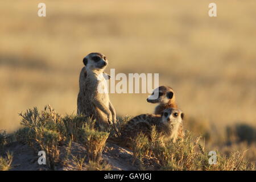
[[[85,67],[79,77],[77,114],[96,119],[102,129],[116,121],[106,82],[110,77],[104,72],[108,59],[102,53],[93,52],[84,57],[83,63]]]

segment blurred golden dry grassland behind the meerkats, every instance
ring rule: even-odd
[[[45,18],[37,15],[40,2]],[[210,2],[217,17],[208,16]],[[159,84],[174,88],[194,118],[190,128],[217,136],[236,123],[255,127],[255,17],[254,0],[1,1],[0,129],[16,130],[28,107],[76,113],[90,52],[108,56],[108,73],[159,73]],[[120,116],[152,113],[147,96],[110,94]]]

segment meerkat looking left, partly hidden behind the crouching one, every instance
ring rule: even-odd
[[[156,88],[150,97],[147,98],[147,102],[158,104],[155,107],[154,114],[162,114],[164,109],[176,108],[177,102],[175,98],[174,90],[170,86],[159,86]],[[183,124],[179,127],[179,137],[184,137]]]

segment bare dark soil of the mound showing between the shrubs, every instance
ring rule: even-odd
[[[27,144],[18,142],[11,143],[6,148],[13,154],[12,171],[42,171],[48,170],[46,165],[40,165],[38,159],[40,156]],[[56,166],[56,170],[70,171],[77,170],[77,164],[72,156],[84,156],[85,148],[79,143],[72,142],[70,147],[70,155],[65,160],[68,152],[68,144],[60,147],[60,164]],[[127,148],[119,147],[113,143],[107,143],[102,152],[103,161],[115,171],[131,171],[138,170],[137,163],[133,163],[133,152]],[[65,160],[65,161],[64,161]],[[82,170],[86,170],[86,162]]]

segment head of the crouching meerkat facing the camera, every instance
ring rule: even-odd
[[[164,125],[179,124],[184,118],[184,113],[180,109],[168,108],[164,109],[162,114],[162,122]]]

